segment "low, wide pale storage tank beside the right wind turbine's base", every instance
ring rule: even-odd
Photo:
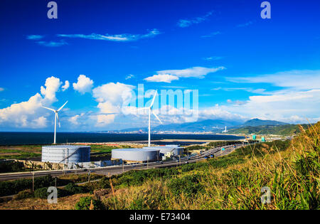
[[[112,159],[127,162],[159,161],[159,149],[112,149]]]

